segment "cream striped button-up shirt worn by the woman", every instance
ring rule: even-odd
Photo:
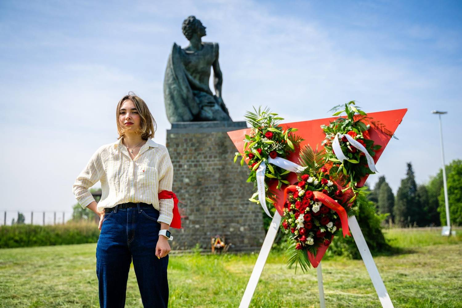
[[[98,211],[120,203],[144,202],[159,211],[159,223],[170,225],[173,199],[158,199],[158,192],[171,191],[173,183],[173,165],[164,145],[148,139],[134,159],[122,144],[122,138],[99,147],[72,187],[83,208],[95,201],[88,188],[98,181],[101,181]]]

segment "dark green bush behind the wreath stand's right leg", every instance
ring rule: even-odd
[[[391,253],[394,251],[382,233],[381,223],[387,217],[386,214],[377,214],[375,205],[368,200],[364,194],[359,194],[357,199],[358,204],[358,220],[359,227],[364,235],[367,246],[372,254]],[[334,240],[330,244],[327,254],[343,255],[348,258],[360,259],[358,247],[354,242],[353,236],[334,236]]]

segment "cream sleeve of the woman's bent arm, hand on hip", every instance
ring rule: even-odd
[[[85,209],[87,205],[95,201],[95,198],[88,191],[88,188],[95,185],[103,174],[103,165],[99,155],[99,149],[91,156],[90,161],[85,168],[80,172],[79,176],[72,186],[72,192],[75,199],[79,202],[82,208]]]

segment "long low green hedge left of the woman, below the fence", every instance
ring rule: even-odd
[[[1,226],[0,248],[96,243],[99,233],[97,224],[91,221]]]

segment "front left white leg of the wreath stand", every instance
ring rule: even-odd
[[[263,241],[263,245],[261,246],[260,254],[258,254],[257,261],[255,262],[254,269],[250,275],[249,283],[245,288],[245,292],[239,308],[248,308],[250,305],[250,301],[252,300],[252,296],[254,296],[255,288],[258,284],[258,279],[260,279],[261,271],[263,271],[263,266],[265,266],[269,251],[271,250],[274,239],[276,238],[276,234],[278,233],[280,222],[281,216],[279,215],[278,211],[276,211],[274,213],[273,220],[269,225],[268,232],[266,234],[265,240]]]

